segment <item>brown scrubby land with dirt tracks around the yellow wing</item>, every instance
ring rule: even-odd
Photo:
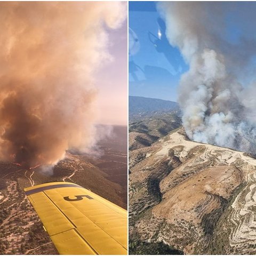
[[[52,181],[75,182],[127,208],[127,127],[114,127],[113,136],[102,140],[96,155],[67,153],[53,169],[22,169],[0,163],[0,253],[58,254],[29,203],[23,188]]]

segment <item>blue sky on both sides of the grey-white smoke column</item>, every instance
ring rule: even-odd
[[[241,49],[241,42],[252,42],[249,45],[256,42],[252,22],[256,3],[219,2],[218,5],[225,13],[225,27],[220,28],[219,36],[230,46],[226,54],[240,58],[247,50]],[[167,42],[164,26],[156,2],[129,2],[129,95],[177,101],[180,77],[189,67],[179,50]],[[135,45],[132,48],[131,42]],[[255,51],[252,51],[248,68],[254,67],[251,72],[254,74],[255,63]],[[244,86],[255,80],[245,73],[237,76]]]

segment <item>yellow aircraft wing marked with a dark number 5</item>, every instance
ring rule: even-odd
[[[60,254],[127,254],[127,211],[70,182],[25,188]]]

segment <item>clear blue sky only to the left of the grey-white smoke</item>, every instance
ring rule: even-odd
[[[159,19],[156,2],[129,2],[129,36],[135,41],[129,47],[129,95],[177,101],[179,79],[188,66],[167,42]]]

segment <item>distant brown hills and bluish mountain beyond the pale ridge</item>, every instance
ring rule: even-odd
[[[129,150],[148,147],[180,125],[177,102],[129,96]]]

